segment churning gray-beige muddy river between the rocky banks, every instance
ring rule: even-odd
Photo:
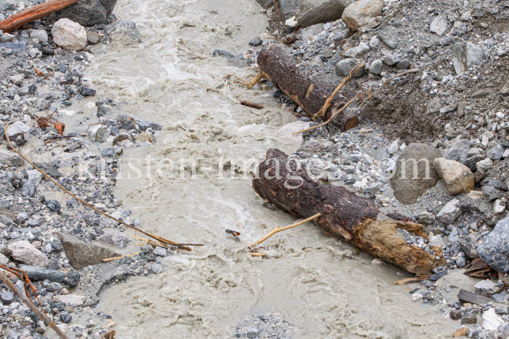
[[[98,97],[128,102],[123,113],[163,131],[153,146],[126,151],[115,195],[144,230],[205,244],[162,259],[162,273],[103,292],[100,310],[113,316],[117,338],[230,338],[247,316],[264,313],[290,323],[285,336],[293,338],[450,337],[455,323],[391,285],[408,273],[371,264],[310,223],[264,242],[269,259],[247,253],[246,243],[295,218],[263,206],[252,162],[242,160],[298,148],[275,136],[297,118],[273,90],[234,84],[254,71],[212,57],[263,36],[268,17],[254,0],[121,0],[116,14],[136,22],[143,42],[103,47],[86,75]],[[254,110],[239,98],[274,108]],[[240,164],[234,175],[231,159]],[[225,229],[240,231],[241,242]]]

